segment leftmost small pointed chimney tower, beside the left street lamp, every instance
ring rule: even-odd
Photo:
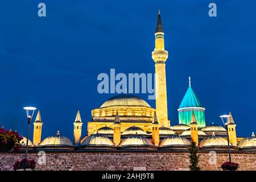
[[[41,143],[41,135],[42,135],[42,118],[40,114],[40,110],[38,110],[38,114],[36,115],[34,122],[34,134],[33,134],[33,143],[38,145]]]

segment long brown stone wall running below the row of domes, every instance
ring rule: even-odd
[[[23,156],[24,153],[0,153],[0,170],[13,170],[14,162]],[[36,170],[134,170],[136,167],[146,167],[146,170],[189,170],[188,156],[188,152],[175,151],[46,151],[46,164],[37,163]],[[37,161],[41,159],[36,152],[30,152],[28,158]],[[235,152],[232,154],[232,160],[240,164],[239,170],[256,170],[255,152]],[[221,170],[221,164],[226,161],[228,153],[200,152],[201,170]]]

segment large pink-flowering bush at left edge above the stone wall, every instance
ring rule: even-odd
[[[18,134],[18,131],[0,129],[0,151],[9,151],[14,146],[14,151],[19,151],[20,140],[23,137]]]

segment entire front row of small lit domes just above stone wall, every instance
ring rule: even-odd
[[[23,144],[26,143],[26,138],[22,141]],[[32,142],[28,140],[28,144],[32,145]],[[168,146],[188,146],[190,144],[189,140],[180,135],[170,135],[164,138],[160,143],[160,147]],[[40,143],[40,146],[72,146],[71,140],[63,135],[60,135],[59,131],[56,136],[48,137]],[[210,137],[206,137],[199,143],[200,147],[209,146],[227,146],[228,141],[222,137],[215,136],[214,133]],[[230,144],[231,145],[231,144]],[[81,146],[114,146],[112,140],[101,134],[92,134],[81,143]],[[120,146],[153,146],[153,144],[147,138],[142,135],[131,135],[125,138]],[[256,147],[256,139],[253,134],[251,137],[242,139],[238,143],[238,147]]]

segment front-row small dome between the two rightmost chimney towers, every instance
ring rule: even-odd
[[[210,147],[210,146],[228,146],[228,140],[215,136],[214,132],[212,136],[206,137],[199,143],[200,147]],[[230,144],[231,146],[231,144]]]

